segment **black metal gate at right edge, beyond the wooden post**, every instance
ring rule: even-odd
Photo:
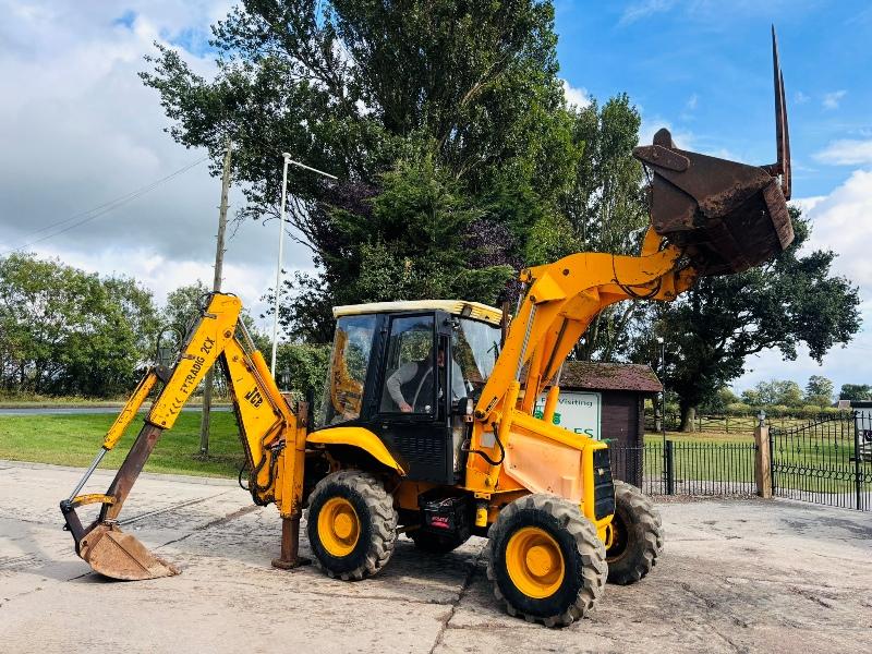
[[[775,496],[872,511],[872,413],[772,428],[770,447]]]

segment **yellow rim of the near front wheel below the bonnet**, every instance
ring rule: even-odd
[[[514,586],[528,597],[550,597],[564,583],[566,564],[557,541],[537,526],[524,526],[506,545],[506,568]]]

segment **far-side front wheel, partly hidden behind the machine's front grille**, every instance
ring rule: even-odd
[[[635,583],[651,572],[663,549],[661,516],[639,488],[616,481],[611,530],[611,546],[606,550],[608,581]]]

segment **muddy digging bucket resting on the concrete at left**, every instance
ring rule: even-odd
[[[98,524],[82,538],[81,556],[104,577],[122,581],[142,581],[179,574],[172,564],[156,557],[131,534],[114,524]]]

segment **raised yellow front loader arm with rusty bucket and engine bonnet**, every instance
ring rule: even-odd
[[[675,300],[700,277],[759,266],[792,242],[787,107],[774,29],[772,47],[775,164],[749,166],[682,150],[661,130],[652,145],[633,150],[651,181],[651,226],[639,255],[579,253],[521,270],[525,292],[474,410],[467,451],[475,456],[467,459],[465,486],[476,498],[526,489],[581,499],[583,513],[605,534],[610,516],[595,506],[593,461],[606,446],[550,424],[560,366],[606,306]],[[537,421],[532,413],[546,386]],[[476,514],[477,525],[486,523]]]

